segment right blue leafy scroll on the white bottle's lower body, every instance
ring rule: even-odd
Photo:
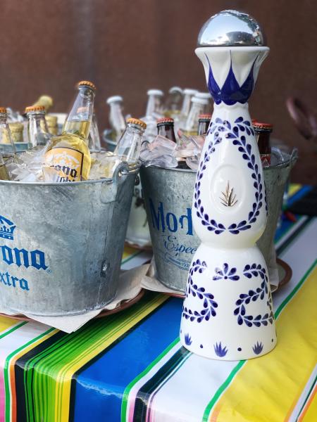
[[[256,288],[256,290],[249,290],[248,293],[241,293],[239,299],[235,302],[237,307],[233,313],[237,316],[237,323],[239,325],[246,324],[248,327],[260,327],[261,325],[267,326],[268,324],[273,324],[272,296],[271,292],[268,293],[268,276],[266,274],[266,269],[263,268],[261,264],[247,264],[244,267],[243,274],[248,279],[251,279],[253,276],[260,276],[262,282],[261,286]],[[259,299],[264,300],[265,297],[267,298],[266,305],[268,306],[269,312],[264,315],[247,315],[246,305],[251,301],[256,302],[256,300]]]

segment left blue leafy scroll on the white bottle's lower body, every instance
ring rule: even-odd
[[[201,274],[206,268],[206,262],[201,262],[200,260],[192,262],[192,266],[189,268],[185,297],[188,298],[189,295],[192,295],[194,298],[197,297],[203,301],[203,309],[201,309],[200,312],[193,312],[192,309],[185,306],[184,302],[182,316],[184,316],[185,319],[189,319],[189,321],[197,321],[200,323],[203,320],[209,321],[211,316],[216,316],[218,303],[214,300],[214,296],[211,293],[206,293],[204,287],[198,287],[192,279],[195,272],[198,271],[198,273]]]

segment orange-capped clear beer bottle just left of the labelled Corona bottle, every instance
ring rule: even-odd
[[[30,106],[25,108],[27,115],[27,138],[30,148],[44,146],[51,139],[45,120],[44,106]]]

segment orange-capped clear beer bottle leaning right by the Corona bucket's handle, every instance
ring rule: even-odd
[[[121,161],[128,162],[129,165],[137,164],[139,151],[141,149],[142,136],[147,124],[142,120],[130,117],[127,120],[127,127],[118,141],[113,155],[118,155]]]

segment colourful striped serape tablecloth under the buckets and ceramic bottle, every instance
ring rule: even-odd
[[[303,191],[292,186],[291,201]],[[317,421],[317,218],[284,222],[276,245],[293,276],[273,295],[273,352],[240,362],[188,352],[182,300],[160,293],[70,334],[1,316],[0,421]],[[123,266],[148,258],[126,250]]]

